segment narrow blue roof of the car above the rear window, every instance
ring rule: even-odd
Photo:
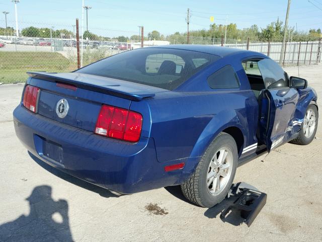
[[[203,45],[203,44],[171,44],[171,45],[157,45],[157,46],[151,46],[152,48],[169,48],[169,49],[184,49],[184,50],[192,50],[192,51],[198,51],[198,52],[204,52],[208,54],[215,54],[221,57],[224,57],[226,55],[234,54],[234,53],[256,53],[259,55],[262,55],[258,52],[254,52],[251,50],[245,50],[245,49],[237,49],[237,48],[231,48],[231,47],[222,47],[222,46],[214,46],[214,45]]]

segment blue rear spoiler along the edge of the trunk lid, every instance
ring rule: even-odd
[[[140,101],[143,98],[155,96],[154,93],[146,93],[146,92],[144,92],[144,93],[130,93],[130,92],[124,92],[124,91],[118,90],[117,87],[113,87],[113,86],[108,86],[108,87],[98,86],[98,85],[94,85],[91,83],[70,80],[70,79],[66,79],[66,78],[62,78],[62,77],[53,75],[55,73],[27,72],[27,74],[32,78],[37,78],[37,79],[41,79],[41,80],[45,80],[45,81],[49,81],[49,82],[66,83],[66,84],[74,85],[74,86],[81,88],[81,89],[86,89],[86,90],[90,90],[90,91],[94,91],[94,92],[117,96],[117,97],[129,99],[132,101]]]

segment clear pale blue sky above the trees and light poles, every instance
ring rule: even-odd
[[[322,27],[322,0],[292,0],[289,25],[298,30]],[[287,0],[230,0],[230,1],[110,1],[85,0],[89,10],[89,30],[104,36],[131,36],[137,34],[143,25],[144,32],[157,30],[162,34],[186,31],[187,8],[191,10],[190,29],[208,29],[209,17],[214,16],[215,23],[236,23],[238,28],[252,24],[266,27],[279,17],[285,21]],[[0,0],[0,12],[10,12],[9,26],[14,26],[15,8],[10,0]],[[72,30],[75,18],[82,18],[82,0],[21,0],[18,4],[19,28],[27,26],[54,26],[56,29]],[[5,16],[1,14],[0,26],[4,27]],[[86,15],[84,28],[86,27]]]

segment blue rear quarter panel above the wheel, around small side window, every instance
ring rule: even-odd
[[[225,65],[235,69],[240,88],[211,89],[207,77]],[[194,171],[215,136],[228,127],[237,127],[243,133],[243,147],[257,143],[258,102],[242,68],[236,58],[226,57],[177,90],[146,100],[157,160],[185,162],[182,179]]]

